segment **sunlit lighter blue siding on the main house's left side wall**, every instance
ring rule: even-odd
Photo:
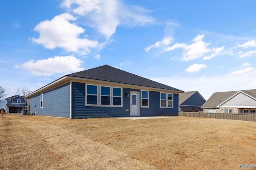
[[[43,108],[40,108],[40,94],[29,99],[30,111],[37,115],[70,117],[70,83],[43,92]],[[34,107],[36,106],[36,107]]]

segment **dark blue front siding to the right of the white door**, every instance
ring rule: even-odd
[[[173,108],[160,108],[160,92],[149,92],[149,108],[140,107],[140,116],[177,116],[178,94],[173,94]]]

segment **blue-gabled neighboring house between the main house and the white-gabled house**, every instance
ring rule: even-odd
[[[179,94],[180,111],[203,111],[201,106],[206,102],[198,91],[184,92]]]

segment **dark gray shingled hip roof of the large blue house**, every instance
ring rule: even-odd
[[[80,71],[80,72],[75,72],[72,74],[68,74],[67,76],[73,76],[73,77],[79,77],[79,78],[90,78],[94,80],[104,80],[109,82],[124,83],[124,84],[131,84],[131,85],[137,85],[137,86],[161,88],[166,90],[183,92],[182,90],[178,90],[176,88],[166,86],[164,84],[149,80],[147,78],[143,78],[141,76],[137,76],[135,74],[132,74],[108,65],[99,66],[99,67],[91,68],[91,69]]]

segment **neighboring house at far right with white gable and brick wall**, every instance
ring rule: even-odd
[[[256,90],[214,93],[202,108],[208,113],[255,113]]]

